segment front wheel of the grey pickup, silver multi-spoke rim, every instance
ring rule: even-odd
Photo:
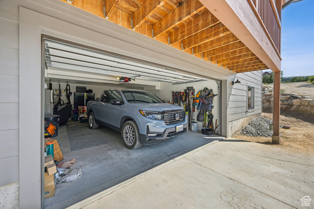
[[[138,135],[138,128],[133,121],[127,121],[123,124],[121,137],[127,149],[137,149],[142,146]]]

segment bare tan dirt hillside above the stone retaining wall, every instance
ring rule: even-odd
[[[265,86],[273,87],[273,84],[265,84]],[[299,96],[314,97],[314,84],[307,82],[281,83],[280,89],[285,93],[295,93]]]

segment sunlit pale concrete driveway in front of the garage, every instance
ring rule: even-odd
[[[313,160],[286,149],[227,138],[70,208],[90,202],[83,208],[302,208],[304,196],[313,200],[307,207],[313,208]]]

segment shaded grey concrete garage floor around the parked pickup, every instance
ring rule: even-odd
[[[73,129],[80,130],[73,139]],[[70,140],[68,137],[70,135]],[[103,135],[104,140],[100,140]],[[200,131],[188,132],[165,142],[127,149],[121,135],[100,126],[90,130],[87,123],[69,121],[60,126],[57,139],[64,161],[72,158],[76,163],[71,169],[81,168],[83,176],[75,181],[56,185],[55,196],[45,200],[45,208],[65,208],[78,201],[104,191],[144,171],[175,157],[208,144],[217,135],[206,136]],[[72,150],[72,151],[71,151]]]

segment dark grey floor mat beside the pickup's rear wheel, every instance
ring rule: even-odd
[[[112,130],[111,135],[108,133],[108,129],[100,126],[98,129],[92,130],[88,127],[88,123],[68,123],[67,132],[71,151],[117,142],[114,137],[118,134],[120,135],[120,133]]]

